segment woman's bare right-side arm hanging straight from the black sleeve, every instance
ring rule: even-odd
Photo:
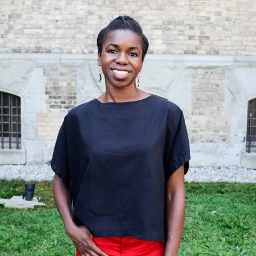
[[[174,172],[166,185],[168,237],[164,256],[177,256],[185,220],[184,166]]]

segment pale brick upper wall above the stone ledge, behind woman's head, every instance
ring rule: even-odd
[[[142,25],[154,54],[255,55],[252,0],[26,0],[0,2],[0,52],[96,52],[119,14]]]

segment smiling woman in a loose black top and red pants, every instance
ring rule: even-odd
[[[53,192],[76,255],[177,255],[189,141],[181,109],[136,87],[148,45],[131,17],[101,30],[105,93],[60,128]]]

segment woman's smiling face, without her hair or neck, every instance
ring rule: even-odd
[[[109,32],[98,56],[98,65],[101,66],[106,85],[124,88],[135,84],[143,65],[142,54],[141,38],[135,32]]]

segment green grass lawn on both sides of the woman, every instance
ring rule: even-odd
[[[21,194],[24,184],[0,180],[0,197]],[[0,208],[0,255],[74,255],[74,245],[54,206],[51,183],[36,182],[35,196],[47,206]],[[186,184],[186,222],[179,256],[201,255],[256,255],[256,184]]]

